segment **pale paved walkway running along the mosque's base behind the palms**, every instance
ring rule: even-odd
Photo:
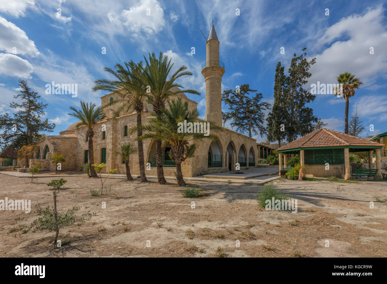
[[[28,177],[31,179],[31,174],[30,173],[21,173],[21,172],[11,172],[11,171],[5,171],[5,172],[0,172],[0,173],[3,173],[5,175],[12,175],[14,177]],[[102,174],[103,176],[106,176],[106,174]],[[56,178],[63,178],[63,177],[82,177],[82,176],[87,176],[86,174],[82,174],[82,175],[35,175],[36,178],[43,178],[43,177],[56,177]],[[147,175],[146,176],[147,178],[149,179],[157,179],[157,176],[156,175]],[[126,179],[126,175],[119,175],[119,174],[113,174],[113,175],[110,175],[109,178],[122,178],[122,179]],[[133,178],[135,178],[135,175],[133,175]],[[265,175],[265,176],[261,176],[261,177],[254,177],[254,178],[251,178],[251,179],[233,179],[232,177],[230,177],[229,179],[227,178],[223,178],[223,179],[211,179],[211,178],[204,178],[203,176],[201,177],[184,177],[184,180],[195,180],[195,181],[203,181],[203,182],[229,182],[229,183],[238,183],[238,184],[257,184],[257,185],[262,185],[262,184],[265,184],[267,182],[270,182],[271,180],[275,180],[275,179],[278,179],[279,176],[278,175]],[[0,179],[1,179],[1,175],[0,175]],[[175,177],[165,177],[165,179],[172,179],[172,180],[176,180]]]

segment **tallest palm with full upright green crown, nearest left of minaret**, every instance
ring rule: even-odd
[[[149,60],[147,60],[145,56],[144,59],[146,66],[141,72],[132,74],[132,79],[135,79],[146,88],[147,97],[152,101],[153,111],[156,114],[156,117],[161,116],[161,110],[165,107],[165,103],[170,96],[182,93],[200,95],[199,92],[192,89],[172,90],[173,88],[176,89],[175,87],[183,88],[182,85],[175,82],[176,79],[185,75],[192,76],[192,72],[185,71],[187,70],[187,66],[180,66],[180,68],[168,78],[171,68],[173,67],[173,63],[171,63],[171,59],[169,59],[168,56],[164,56],[163,53],[160,52],[159,57],[157,58],[155,53],[149,53]],[[156,166],[158,182],[159,184],[165,184],[166,180],[164,178],[161,140],[159,139],[156,139]]]

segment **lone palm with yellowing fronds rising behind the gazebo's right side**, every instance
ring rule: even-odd
[[[360,78],[355,78],[355,75],[352,75],[348,71],[341,73],[337,77],[337,83],[342,87],[338,86],[334,89],[334,95],[344,97],[345,99],[345,112],[344,112],[344,133],[348,134],[348,111],[349,111],[349,98],[355,95],[355,89],[358,89],[363,82],[360,82]]]

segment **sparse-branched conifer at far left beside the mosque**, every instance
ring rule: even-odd
[[[53,132],[55,128],[54,123],[43,119],[47,104],[39,102],[38,93],[33,92],[25,80],[19,80],[19,87],[21,91],[14,98],[21,102],[10,103],[10,107],[16,111],[13,117],[9,113],[0,115],[0,145],[15,150],[39,141],[43,132]],[[26,161],[28,165],[28,157]]]

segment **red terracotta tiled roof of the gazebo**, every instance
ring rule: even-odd
[[[287,145],[278,148],[278,152],[315,149],[315,148],[351,148],[351,149],[376,149],[382,148],[383,144],[368,141],[338,131],[320,128]],[[363,150],[364,151],[364,150]]]

